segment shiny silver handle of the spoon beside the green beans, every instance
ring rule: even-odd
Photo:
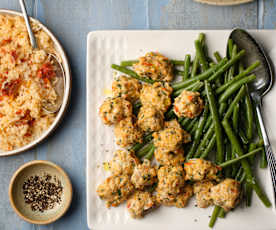
[[[271,148],[268,136],[267,136],[266,128],[265,128],[262,113],[261,113],[261,104],[260,103],[256,105],[256,110],[257,110],[257,116],[258,116],[258,119],[260,122],[262,136],[263,136],[263,140],[264,140],[264,148],[265,148],[268,166],[270,169],[271,180],[272,180],[272,185],[273,185],[274,200],[275,200],[275,198],[276,198],[276,160],[275,160],[275,156],[272,152],[272,148]]]

